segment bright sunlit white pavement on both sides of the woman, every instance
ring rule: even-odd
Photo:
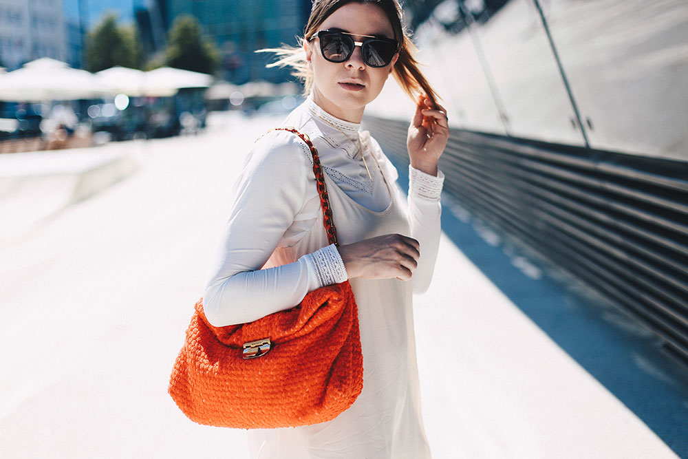
[[[166,387],[232,184],[277,122],[91,149],[129,175],[87,199],[61,184],[30,231],[0,231],[0,458],[247,456],[244,431],[191,423]],[[676,457],[444,235],[415,316],[433,458]]]

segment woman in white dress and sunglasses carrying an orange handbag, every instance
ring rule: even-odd
[[[251,431],[254,458],[429,458],[420,416],[412,292],[429,284],[440,236],[437,169],[447,116],[411,57],[397,0],[316,0],[303,47],[278,64],[304,76],[308,99],[284,125],[308,134],[325,171],[340,246],[328,246],[305,143],[271,131],[255,143],[204,292],[213,325],[291,308],[350,279],[358,304],[363,392],[334,420]],[[389,74],[417,95],[409,127],[408,206],[396,170],[358,128]]]

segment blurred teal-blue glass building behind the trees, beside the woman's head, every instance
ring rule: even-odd
[[[196,17],[204,34],[222,52],[219,76],[240,84],[257,79],[279,83],[289,78],[288,70],[266,69],[272,56],[255,50],[297,45],[311,4],[310,0],[153,0],[148,7],[151,26],[160,24],[165,32],[182,14]]]

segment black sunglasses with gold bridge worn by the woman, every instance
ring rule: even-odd
[[[348,61],[356,46],[361,47],[363,62],[370,67],[385,67],[389,65],[394,54],[396,54],[399,43],[396,40],[384,37],[358,35],[366,39],[354,41],[353,34],[347,32],[331,32],[321,30],[310,37],[309,41],[320,39],[320,50],[326,61],[345,62]]]

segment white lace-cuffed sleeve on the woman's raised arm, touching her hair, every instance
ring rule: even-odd
[[[442,231],[440,194],[443,183],[442,171],[434,177],[409,166],[409,224],[411,237],[420,244],[418,268],[411,277],[413,293],[416,294],[428,289],[435,270]]]

